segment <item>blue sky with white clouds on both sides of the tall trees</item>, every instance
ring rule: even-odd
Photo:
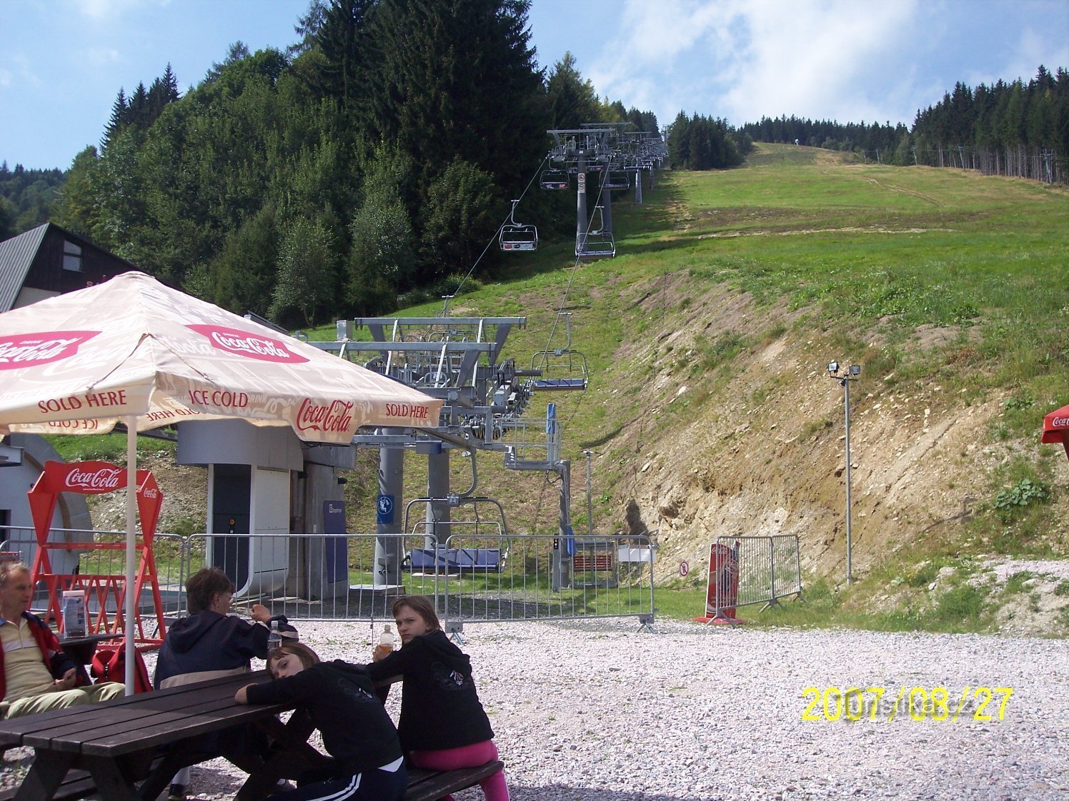
[[[307,0],[0,0],[0,160],[66,169],[120,88],[185,91],[231,43],[284,48]],[[533,0],[539,63],[653,111],[903,122],[956,81],[1069,68],[1069,0]]]

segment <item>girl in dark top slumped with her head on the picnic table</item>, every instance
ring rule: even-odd
[[[332,759],[297,779],[297,788],[268,801],[401,801],[408,775],[397,729],[368,672],[341,660],[323,662],[301,643],[283,643],[267,658],[275,680],[246,685],[238,704],[304,707]]]

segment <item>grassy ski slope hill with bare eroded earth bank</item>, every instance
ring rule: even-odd
[[[1069,403],[1069,192],[759,145],[735,170],[659,173],[645,201],[614,203],[616,258],[575,266],[571,241],[543,241],[515,256],[515,278],[450,308],[526,315],[506,354],[521,366],[564,345],[549,334],[571,312],[589,390],[538,395],[530,413],[557,404],[576,532],[590,450],[593,530],[655,532],[666,586],[682,585],[681,560],[687,582],[702,576],[716,536],[797,534],[811,599],[876,625],[987,628],[1007,606],[992,593],[1009,592],[985,583],[988,560],[1069,557],[1069,461],[1039,443],[1043,414]],[[863,371],[850,593],[832,360]],[[373,466],[361,458],[347,485],[353,530],[374,524]],[[557,492],[480,456],[477,494],[499,499],[514,532],[554,531]],[[1051,619],[1069,629],[1069,581],[1012,575],[1026,607],[1037,586],[1065,601]]]

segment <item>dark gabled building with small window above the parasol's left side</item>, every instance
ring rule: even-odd
[[[136,269],[86,237],[46,222],[0,242],[0,312]]]

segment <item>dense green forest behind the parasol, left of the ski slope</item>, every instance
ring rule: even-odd
[[[237,312],[290,326],[455,289],[524,197],[552,237],[574,199],[525,193],[546,130],[650,112],[601,99],[570,54],[539,69],[529,0],[312,0],[285,51],[242,43],[184,95],[170,66],[115,99],[59,224]],[[506,256],[493,249],[476,279]],[[399,300],[400,296],[400,300]]]

